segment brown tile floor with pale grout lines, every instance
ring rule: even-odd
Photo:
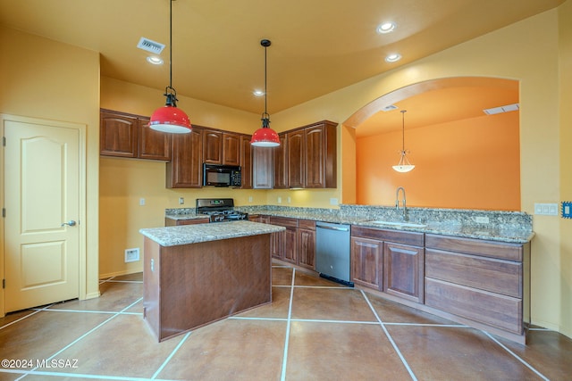
[[[572,379],[564,335],[536,329],[514,344],[277,265],[272,304],[159,344],[141,279],[105,279],[98,299],[0,319],[0,357],[14,360],[0,380]]]

